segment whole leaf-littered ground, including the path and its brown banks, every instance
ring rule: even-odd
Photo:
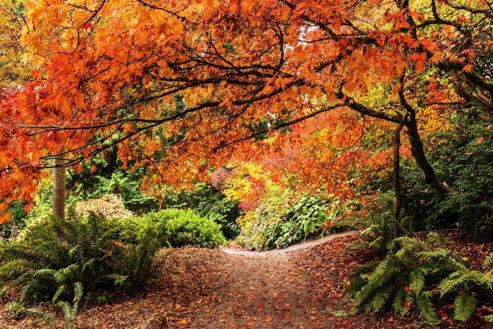
[[[447,303],[438,327],[423,324],[412,312],[404,318],[390,309],[375,314],[345,312],[348,278],[357,266],[375,259],[368,250],[348,251],[357,237],[354,232],[332,234],[264,253],[235,246],[163,249],[154,283],[139,293],[110,292],[105,303],[81,302],[76,328],[493,327],[480,321],[481,309],[472,321],[453,323],[447,318]],[[464,243],[461,248],[466,254],[484,253],[493,251],[493,244]],[[41,328],[32,318],[8,316],[3,310],[12,299],[11,293],[0,301],[0,328]],[[492,307],[492,302],[483,304]]]

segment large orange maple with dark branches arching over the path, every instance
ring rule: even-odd
[[[124,166],[154,173],[142,188],[191,184],[255,137],[341,108],[402,125],[425,181],[449,193],[417,113],[493,110],[486,1],[31,0],[24,18],[33,81],[0,100],[0,210],[31,201],[56,157],[81,168],[120,144]]]

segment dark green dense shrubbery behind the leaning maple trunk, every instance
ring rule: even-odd
[[[470,109],[453,119],[454,129],[426,136],[433,141],[428,158],[438,177],[455,193],[437,194],[422,180],[419,168],[404,161],[404,212],[415,215],[418,228],[470,229],[482,239],[493,237],[493,131]]]

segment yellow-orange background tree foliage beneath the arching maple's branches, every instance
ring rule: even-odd
[[[276,185],[293,192],[309,188],[315,193],[322,188],[342,202],[364,202],[373,193],[361,193],[358,187],[392,166],[389,126],[387,121],[344,108],[321,113],[292,125],[289,134],[277,132],[258,141],[246,161],[235,158],[217,168],[212,183],[242,201],[246,209]],[[273,152],[255,156],[259,148]],[[408,145],[400,146],[403,157],[410,153]]]

